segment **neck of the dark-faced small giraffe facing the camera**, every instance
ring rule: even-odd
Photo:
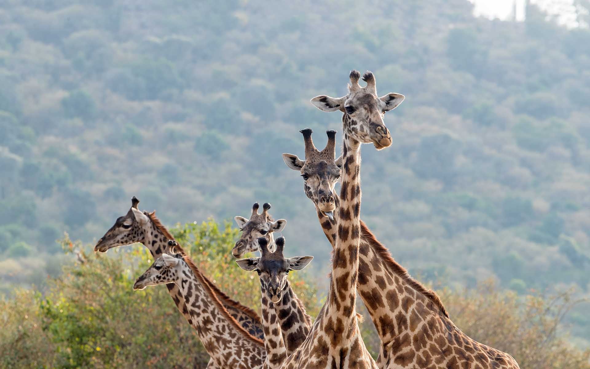
[[[287,345],[287,355],[291,355],[309,334],[312,328],[312,318],[307,315],[303,303],[293,292],[289,280],[287,280],[282,293],[283,297],[279,302],[274,303],[274,309],[277,312],[281,332]]]

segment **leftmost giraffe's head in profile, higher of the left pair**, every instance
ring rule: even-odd
[[[149,223],[149,217],[137,209],[139,200],[135,196],[131,199],[131,208],[127,214],[117,218],[114,225],[96,243],[94,251],[106,252],[112,247],[124,246],[145,239],[145,226]]]

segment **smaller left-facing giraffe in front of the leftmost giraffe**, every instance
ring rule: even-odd
[[[178,243],[169,240],[168,244],[173,249],[171,254],[160,255],[137,278],[133,290],[165,283],[178,286],[192,326],[211,356],[208,368],[269,368],[263,342],[231,317],[188,256],[183,252],[173,254]]]

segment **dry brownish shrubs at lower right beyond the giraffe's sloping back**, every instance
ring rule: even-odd
[[[514,285],[522,286],[521,282]],[[461,331],[509,352],[521,368],[590,368],[590,350],[579,350],[557,334],[563,316],[583,303],[573,298],[572,290],[519,297],[488,281],[474,290],[445,289],[441,298]]]

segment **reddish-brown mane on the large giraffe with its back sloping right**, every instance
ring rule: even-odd
[[[381,256],[381,259],[391,268],[391,270],[394,271],[396,275],[401,277],[401,279],[404,280],[404,282],[408,283],[408,285],[410,285],[411,288],[417,290],[417,292],[422,293],[422,295],[426,296],[430,301],[432,301],[432,303],[434,303],[434,305],[436,305],[440,309],[442,314],[444,314],[444,316],[448,318],[447,309],[445,309],[444,305],[442,305],[442,301],[440,297],[438,297],[437,293],[431,289],[425,288],[424,285],[422,285],[422,283],[412,278],[409,275],[408,271],[403,266],[399,265],[398,262],[395,261],[394,257],[391,256],[389,250],[376,239],[375,235],[371,232],[369,227],[367,227],[365,222],[362,220],[360,221],[360,233],[363,234],[363,239],[369,241],[369,244],[371,244],[373,250],[375,250],[379,254],[379,256]]]

